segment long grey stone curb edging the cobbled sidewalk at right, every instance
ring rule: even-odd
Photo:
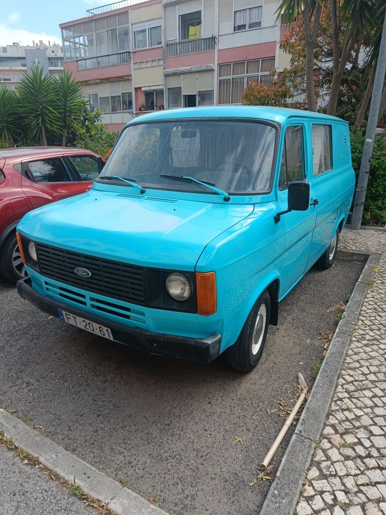
[[[327,355],[315,379],[307,404],[296,425],[260,515],[293,515],[315,443],[323,430],[354,324],[379,260],[379,256],[376,254],[352,250],[339,250],[337,258],[348,261],[366,261],[366,264],[331,340]]]

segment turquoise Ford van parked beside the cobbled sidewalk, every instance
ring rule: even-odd
[[[100,161],[100,160],[99,160]],[[17,226],[19,295],[96,335],[251,371],[279,302],[334,262],[354,194],[348,125],[269,107],[157,111],[90,191]]]

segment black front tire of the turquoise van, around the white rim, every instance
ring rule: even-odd
[[[266,317],[264,331],[262,332],[262,339],[259,344],[257,352],[253,353],[253,335],[255,330],[255,324],[261,305],[265,305]],[[255,305],[252,308],[251,313],[248,315],[247,320],[244,323],[244,327],[241,330],[240,336],[236,343],[229,347],[225,351],[225,358],[228,364],[240,370],[241,372],[251,372],[260,361],[262,351],[266,343],[269,317],[271,312],[271,300],[269,293],[265,290],[260,297],[257,299]],[[261,315],[262,316],[262,315]]]

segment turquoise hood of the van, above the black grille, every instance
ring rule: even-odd
[[[35,241],[127,263],[194,270],[205,246],[253,204],[90,190],[27,213],[17,230]]]

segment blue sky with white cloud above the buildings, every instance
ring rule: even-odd
[[[3,2],[0,18],[0,45],[19,42],[32,45],[32,41],[61,43],[59,23],[76,20],[86,15],[86,10],[106,5],[107,0],[19,0]]]

